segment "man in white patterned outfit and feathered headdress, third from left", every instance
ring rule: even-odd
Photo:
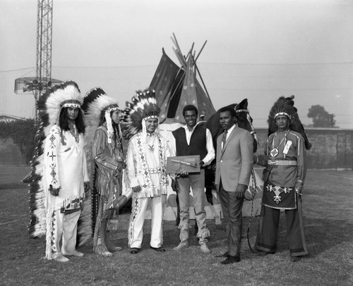
[[[143,222],[150,204],[150,247],[164,252],[162,219],[168,185],[166,164],[170,155],[167,141],[157,130],[160,108],[157,106],[155,92],[151,89],[137,92],[133,103],[126,108],[126,113],[128,125],[123,133],[127,139],[132,136],[126,155],[126,187],[133,190],[128,245],[131,254],[140,251]]]

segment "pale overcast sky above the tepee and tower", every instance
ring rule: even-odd
[[[32,94],[15,94],[35,76],[37,1],[0,0],[0,113],[34,115]],[[353,128],[353,1],[54,0],[52,77],[83,94],[100,86],[120,105],[148,87],[162,47],[177,64],[207,40],[198,66],[216,109],[249,100],[255,127],[273,102],[295,95],[305,124],[313,104]]]

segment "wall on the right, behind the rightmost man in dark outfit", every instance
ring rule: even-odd
[[[353,130],[336,128],[306,128],[306,136],[313,145],[306,152],[308,168],[353,170]],[[256,154],[263,154],[267,129],[256,129],[260,146]]]

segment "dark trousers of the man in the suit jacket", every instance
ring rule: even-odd
[[[226,223],[226,234],[228,243],[228,254],[240,256],[241,230],[243,227],[243,208],[244,199],[237,199],[235,192],[227,192],[220,184],[220,203],[222,206],[223,218]]]

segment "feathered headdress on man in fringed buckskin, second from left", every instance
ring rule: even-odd
[[[95,87],[83,99],[83,110],[88,125],[87,134],[93,136],[98,126],[105,120],[107,122],[108,142],[111,143],[114,130],[110,113],[120,111],[116,99],[109,97],[102,88]]]

